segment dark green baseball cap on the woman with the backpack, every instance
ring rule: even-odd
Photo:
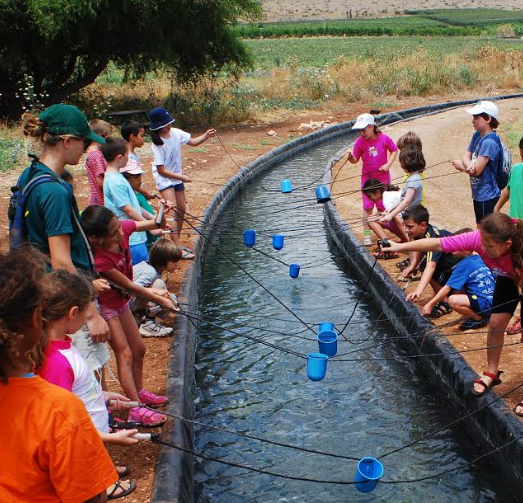
[[[72,135],[96,143],[105,140],[91,131],[85,115],[72,105],[52,105],[46,108],[38,117],[45,122],[47,131],[55,135]]]

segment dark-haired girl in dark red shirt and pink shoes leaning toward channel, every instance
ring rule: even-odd
[[[165,225],[165,219],[162,223]],[[97,271],[113,284],[110,291],[100,294],[99,302],[111,332],[109,343],[116,356],[118,376],[125,395],[145,405],[164,405],[168,402],[167,397],[143,389],[145,346],[129,309],[128,298],[129,293],[134,293],[167,309],[175,308],[168,292],[133,283],[129,236],[136,230],[148,230],[157,225],[154,220],[118,220],[108,208],[89,206],[82,214],[82,227],[93,245]],[[129,414],[130,421],[144,426],[159,426],[166,419],[165,415],[145,407],[133,407]]]

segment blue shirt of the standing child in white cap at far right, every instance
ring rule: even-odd
[[[496,133],[493,133],[496,134]],[[496,140],[481,136],[477,131],[472,135],[469,148],[472,154],[472,162],[475,163],[478,157],[488,157],[488,163],[480,176],[470,177],[470,188],[472,189],[472,199],[474,201],[490,201],[501,195],[498,182],[496,181],[496,171],[501,151]]]

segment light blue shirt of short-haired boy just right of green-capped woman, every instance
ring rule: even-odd
[[[105,173],[104,177],[104,204],[117,217],[118,220],[129,220],[129,216],[122,211],[124,206],[130,204],[140,215],[142,208],[134,190],[121,173]],[[129,238],[129,245],[139,245],[147,241],[145,232],[133,232]]]

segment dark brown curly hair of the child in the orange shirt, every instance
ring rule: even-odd
[[[35,251],[0,254],[0,382],[7,382],[7,368],[30,355],[20,354],[23,325],[42,302],[42,257]]]

